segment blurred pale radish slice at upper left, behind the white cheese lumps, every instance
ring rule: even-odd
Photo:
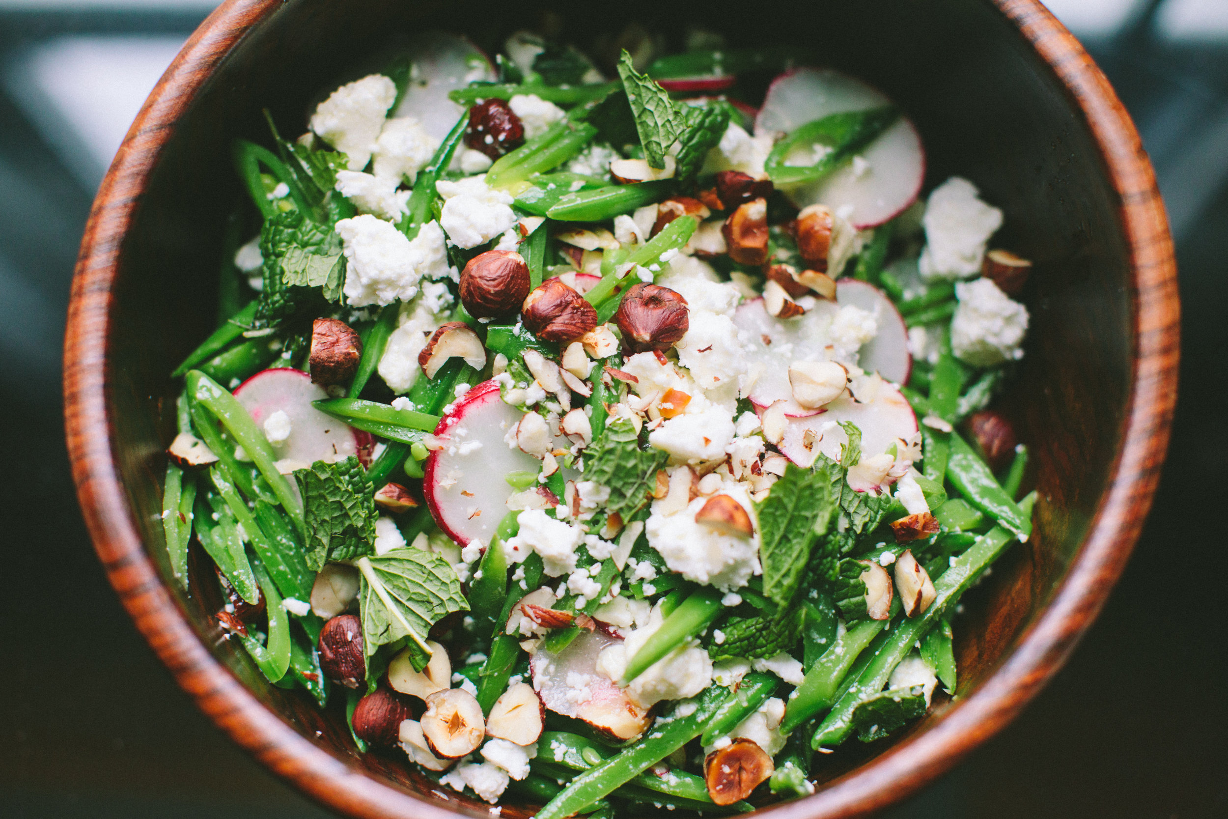
[[[393,115],[413,117],[437,140],[448,135],[465,109],[448,99],[448,92],[495,79],[486,55],[463,37],[426,32],[414,38],[405,55],[413,61],[409,86]]]

